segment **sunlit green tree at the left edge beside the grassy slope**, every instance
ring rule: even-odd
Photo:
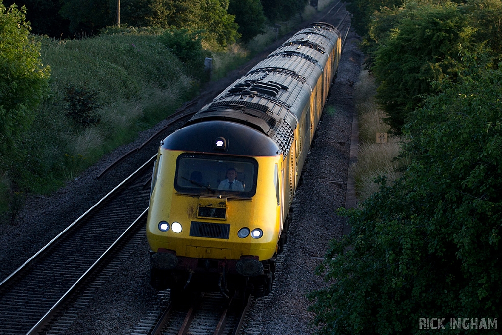
[[[6,155],[29,127],[42,100],[50,69],[40,44],[30,36],[26,8],[0,3],[0,155]]]

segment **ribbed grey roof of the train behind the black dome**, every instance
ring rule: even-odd
[[[185,127],[217,120],[245,124],[287,153],[293,131],[339,38],[330,24],[310,24],[223,90]]]

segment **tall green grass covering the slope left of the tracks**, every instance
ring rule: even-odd
[[[48,193],[104,153],[133,141],[190,99],[197,83],[152,31],[82,40],[40,37],[51,67],[50,93],[11,161],[20,190]],[[67,116],[67,88],[96,92],[100,123],[78,127]]]

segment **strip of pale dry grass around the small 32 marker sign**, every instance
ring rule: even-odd
[[[379,190],[376,177],[385,175],[390,181],[400,176],[402,162],[396,160],[400,138],[389,136],[387,143],[377,143],[377,133],[388,133],[385,113],[375,101],[376,86],[367,71],[362,71],[356,84],[355,101],[359,124],[357,163],[349,167],[355,178],[357,198],[361,201]]]

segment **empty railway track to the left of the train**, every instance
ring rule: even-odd
[[[131,232],[144,227],[149,190],[143,185],[153,162],[145,163],[0,283],[0,333],[37,333]]]

